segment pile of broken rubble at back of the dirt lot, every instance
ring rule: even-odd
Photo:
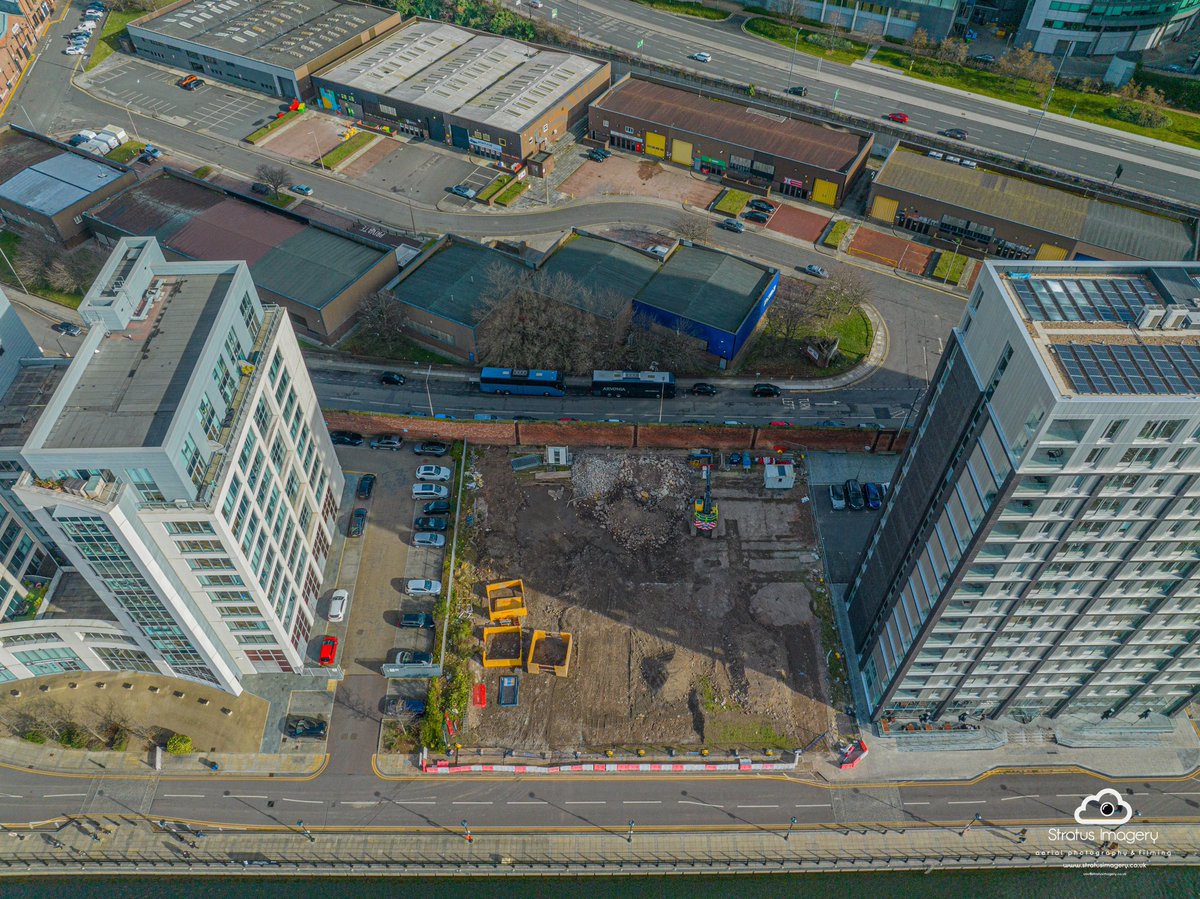
[[[583,453],[571,468],[571,502],[617,544],[638,552],[678,537],[694,483],[694,473],[679,459]]]

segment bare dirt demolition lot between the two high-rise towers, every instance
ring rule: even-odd
[[[490,702],[470,709],[472,744],[786,749],[827,730],[815,532],[799,487],[767,496],[761,468],[718,473],[709,539],[689,534],[703,487],[685,453],[584,450],[559,481],[515,474],[509,459],[492,450],[475,466],[480,581],[524,580],[526,633],[570,633],[570,675],[473,663]],[[500,708],[509,673],[520,706]]]

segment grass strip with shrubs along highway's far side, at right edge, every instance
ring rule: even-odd
[[[950,88],[1007,100],[1010,103],[1019,103],[1033,109],[1039,109],[1045,102],[1043,91],[1046,85],[1009,78],[996,72],[960,66],[954,62],[914,58],[889,47],[880,48],[872,61],[899,68],[912,78],[937,82]],[[1170,120],[1169,124],[1160,128],[1146,128],[1133,122],[1121,121],[1109,114],[1109,110],[1121,102],[1121,97],[1056,88],[1048,110],[1060,115],[1072,115],[1075,119],[1104,125],[1117,131],[1129,131],[1157,140],[1200,149],[1200,116],[1162,108],[1160,112]]]

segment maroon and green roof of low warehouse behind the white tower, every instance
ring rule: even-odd
[[[152,236],[186,259],[245,259],[263,302],[324,308],[362,277],[385,250],[275,212],[168,173],[89,212],[125,234]]]

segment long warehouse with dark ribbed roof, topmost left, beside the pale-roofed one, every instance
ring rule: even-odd
[[[402,20],[341,0],[181,0],[128,26],[133,49],[240,88],[304,98],[310,77]]]

